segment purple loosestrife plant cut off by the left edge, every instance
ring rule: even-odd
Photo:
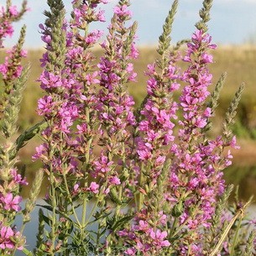
[[[0,43],[3,47],[3,40],[7,35],[13,34],[13,22],[18,21],[25,11],[26,1],[18,11],[11,1],[7,1],[6,8],[1,7],[1,33]],[[21,59],[26,55],[22,50],[24,44],[25,27],[21,29],[18,43],[12,50],[7,50],[8,56],[4,63],[0,64],[2,75],[1,84],[3,93],[1,95],[1,145],[0,145],[0,253],[1,255],[14,255],[16,250],[26,250],[24,248],[26,239],[23,236],[25,224],[29,222],[30,212],[34,208],[34,202],[39,194],[40,182],[43,173],[39,171],[36,175],[34,188],[30,192],[29,199],[24,207],[21,208],[22,196],[20,191],[28,182],[23,175],[19,174],[18,149],[28,138],[21,136],[15,142],[13,138],[17,136],[17,121],[22,94],[25,83],[28,79],[29,66],[23,67]],[[22,138],[23,137],[23,138]],[[35,188],[36,187],[36,188]],[[16,217],[22,215],[23,225],[18,231],[15,227]]]

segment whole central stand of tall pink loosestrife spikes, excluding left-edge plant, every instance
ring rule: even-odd
[[[71,209],[76,219],[74,245],[85,239],[88,223],[101,219],[97,241],[102,233],[111,232],[104,245],[95,246],[108,253],[113,241],[124,239],[128,255],[159,251],[201,255],[205,249],[202,230],[212,225],[217,198],[225,189],[222,170],[231,164],[230,151],[225,155],[223,149],[237,147],[235,137],[228,141],[222,136],[206,136],[214,111],[206,103],[212,83],[207,65],[213,62],[208,51],[216,45],[201,25],[187,44],[185,55],[169,50],[175,1],[159,38],[159,59],[148,65],[145,73],[149,77],[147,97],[135,112],[127,91],[127,84],[137,75],[132,60],[138,57],[136,24],[126,25],[132,17],[129,1],[119,1],[114,8],[97,65],[89,49],[102,32],[90,31],[88,24],[105,20],[97,7],[106,1],[72,3],[70,23],[63,9],[55,13],[53,4],[46,25],[40,25],[47,52],[41,60],[44,71],[39,78],[46,95],[39,99],[38,112],[48,128],[42,133],[44,144],[36,149],[34,159],[42,160],[50,180],[45,201],[54,206],[52,221],[58,222],[57,212]],[[185,71],[179,68],[180,60],[187,64]],[[180,86],[180,100],[175,102]],[[69,200],[57,203],[60,196]],[[86,203],[92,198],[96,205],[86,219]],[[81,221],[76,214],[78,199]],[[136,204],[131,216],[123,212],[129,199]],[[123,227],[120,223],[126,218],[132,221]],[[67,236],[71,225],[68,218],[61,221],[46,236],[48,240],[45,238],[45,243],[51,241],[47,250],[39,250],[57,253],[54,244],[62,243],[60,238]],[[175,236],[179,239],[170,243]],[[68,239],[63,243],[69,247]],[[79,243],[76,246],[80,248]]]

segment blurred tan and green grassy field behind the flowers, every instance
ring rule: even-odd
[[[138,73],[138,82],[129,85],[129,91],[133,95],[137,107],[146,93],[147,76],[144,76],[144,71],[146,71],[147,65],[157,57],[157,53],[152,46],[142,47],[139,51],[140,57],[134,62],[135,71]],[[31,74],[24,92],[24,101],[20,112],[20,133],[41,121],[36,113],[36,107],[39,97],[42,96],[42,91],[39,82],[36,80],[42,71],[39,59],[43,52],[43,49],[29,50],[28,58],[24,60],[24,64],[31,64]],[[96,50],[95,54],[98,58],[101,51]],[[231,102],[238,86],[245,82],[237,123],[234,126],[234,133],[238,136],[241,149],[233,152],[234,165],[225,172],[225,175],[228,183],[240,184],[243,198],[248,198],[251,194],[256,195],[256,47],[253,45],[220,46],[212,54],[214,55],[214,63],[210,67],[213,74],[212,88],[222,73],[227,72],[227,80],[222,90],[212,129],[213,133],[218,133],[221,130],[222,118],[228,104]],[[0,51],[1,62],[3,57],[4,52]],[[31,155],[34,154],[34,148],[37,144],[39,144],[39,138],[34,138],[20,153],[22,162],[28,165],[27,175],[29,180],[33,180],[34,171],[39,168],[38,163],[31,163]]]

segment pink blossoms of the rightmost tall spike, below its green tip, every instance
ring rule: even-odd
[[[215,212],[217,196],[222,195],[225,187],[222,170],[231,164],[230,150],[222,156],[223,149],[236,144],[235,138],[228,144],[224,144],[221,136],[206,138],[203,130],[212,116],[212,109],[206,106],[210,95],[207,88],[212,83],[212,74],[206,65],[213,61],[207,50],[216,48],[211,40],[203,30],[196,30],[187,44],[183,60],[189,66],[182,76],[186,85],[180,96],[183,118],[179,121],[179,144],[171,148],[174,159],[170,167],[169,191],[165,194],[168,201],[175,203],[173,215],[178,217],[180,227],[197,233],[194,241],[189,238],[194,247],[190,250],[196,255],[202,250],[200,227],[211,225],[209,221]],[[183,248],[180,255],[187,254],[185,239],[180,239],[180,248]]]

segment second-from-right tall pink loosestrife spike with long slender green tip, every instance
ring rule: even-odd
[[[170,52],[170,31],[178,2],[175,1],[165,20],[163,34],[159,38],[159,60],[148,65],[146,75],[148,95],[137,112],[136,161],[138,163],[138,195],[135,222],[131,230],[119,232],[135,243],[126,253],[141,252],[154,254],[162,248],[170,247],[166,239],[167,216],[163,212],[163,180],[170,168],[168,154],[174,141],[176,111],[178,104],[173,100],[173,92],[180,84],[179,68],[175,65],[178,55]]]

